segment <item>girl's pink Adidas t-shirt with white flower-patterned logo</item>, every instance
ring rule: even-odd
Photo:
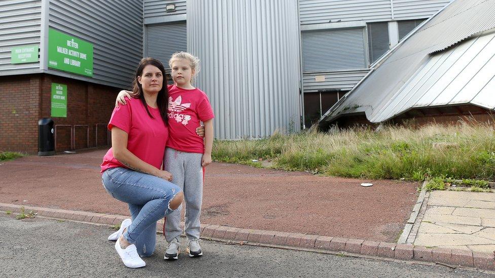
[[[196,134],[200,121],[215,117],[206,94],[195,89],[168,86],[168,128],[170,137],[167,147],[194,153],[204,153],[203,137]]]

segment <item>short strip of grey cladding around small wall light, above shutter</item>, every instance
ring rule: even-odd
[[[194,2],[194,1],[193,1]],[[175,5],[175,12],[165,12],[165,6],[168,4]],[[145,0],[144,1],[144,22],[153,24],[160,22],[175,21],[181,15],[185,19],[186,0]]]

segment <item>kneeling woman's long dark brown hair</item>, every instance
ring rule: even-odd
[[[146,104],[145,100],[145,95],[143,93],[143,86],[139,84],[137,81],[137,76],[141,76],[143,74],[143,70],[147,65],[152,65],[156,66],[160,71],[162,72],[163,76],[163,85],[162,89],[158,92],[158,96],[156,99],[156,103],[158,106],[158,110],[160,111],[160,115],[162,116],[162,120],[165,123],[165,125],[168,124],[168,114],[167,114],[167,108],[168,108],[168,89],[167,89],[167,77],[165,75],[165,68],[163,67],[163,64],[158,61],[155,58],[143,58],[139,62],[139,65],[137,66],[136,69],[136,74],[134,77],[134,82],[132,83],[133,89],[132,89],[132,96],[133,97],[138,97],[143,105],[146,108],[146,111],[148,112],[148,115],[150,117],[154,118],[153,115],[150,113],[150,110],[148,109],[148,105]]]

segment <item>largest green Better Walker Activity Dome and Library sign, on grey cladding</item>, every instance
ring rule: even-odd
[[[50,28],[48,67],[93,76],[93,44]]]

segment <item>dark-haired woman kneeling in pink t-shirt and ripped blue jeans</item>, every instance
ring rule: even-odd
[[[132,223],[122,230],[115,249],[124,265],[143,267],[139,257],[155,250],[156,221],[177,209],[184,200],[182,190],[161,170],[168,138],[168,91],[160,61],[144,58],[134,79],[127,105],[114,109],[110,118],[112,148],[103,157],[105,190],[129,206]]]

